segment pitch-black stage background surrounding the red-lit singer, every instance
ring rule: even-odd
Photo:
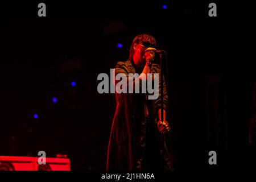
[[[149,33],[168,54],[176,169],[213,168],[211,150],[215,168],[249,167],[256,77],[242,48],[251,25],[232,4],[216,2],[217,17],[209,17],[207,1],[43,2],[46,17],[38,17],[40,2],[1,7],[0,155],[44,150],[67,154],[73,170],[104,170],[115,100],[97,92],[97,76]]]

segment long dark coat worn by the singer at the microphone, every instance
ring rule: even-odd
[[[124,73],[129,79],[129,73],[135,73],[132,61],[118,62],[115,75]],[[158,64],[152,64],[152,73],[159,73]],[[115,81],[117,84],[118,81]],[[141,86],[141,82],[139,82]],[[167,110],[168,97],[164,86],[164,109]],[[148,100],[147,94],[115,92],[116,109],[109,139],[107,171],[144,171],[172,169],[170,155],[163,137],[163,152],[160,155],[160,132],[157,129],[156,109],[160,107],[159,97]],[[146,117],[146,107],[148,116]],[[161,158],[163,163],[160,163]],[[163,165],[161,165],[163,164]]]

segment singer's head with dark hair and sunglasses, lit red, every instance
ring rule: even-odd
[[[134,62],[138,67],[144,67],[146,64],[146,58],[144,56],[144,51],[148,47],[155,47],[156,41],[152,35],[141,34],[136,36],[131,43],[129,59]]]

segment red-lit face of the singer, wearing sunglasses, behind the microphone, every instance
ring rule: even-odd
[[[133,55],[133,61],[136,65],[139,65],[140,67],[144,67],[146,64],[146,57],[145,57],[145,50],[148,47],[155,47],[149,42],[141,42],[139,44],[134,44],[134,55]]]

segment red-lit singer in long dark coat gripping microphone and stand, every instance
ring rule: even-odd
[[[148,34],[136,36],[130,47],[129,59],[115,65],[115,75],[124,73],[127,80],[129,73],[160,75],[160,67],[154,63],[155,46],[156,40],[153,36]],[[145,81],[144,78],[139,76],[140,85]],[[118,81],[115,80],[114,84]],[[166,135],[171,129],[166,121],[168,96],[164,80],[163,122],[161,118],[160,76],[158,88],[159,97],[156,100],[148,100],[148,93],[115,93],[117,105],[109,139],[107,171],[172,170],[165,137],[162,137],[163,140],[160,142],[161,135]]]

